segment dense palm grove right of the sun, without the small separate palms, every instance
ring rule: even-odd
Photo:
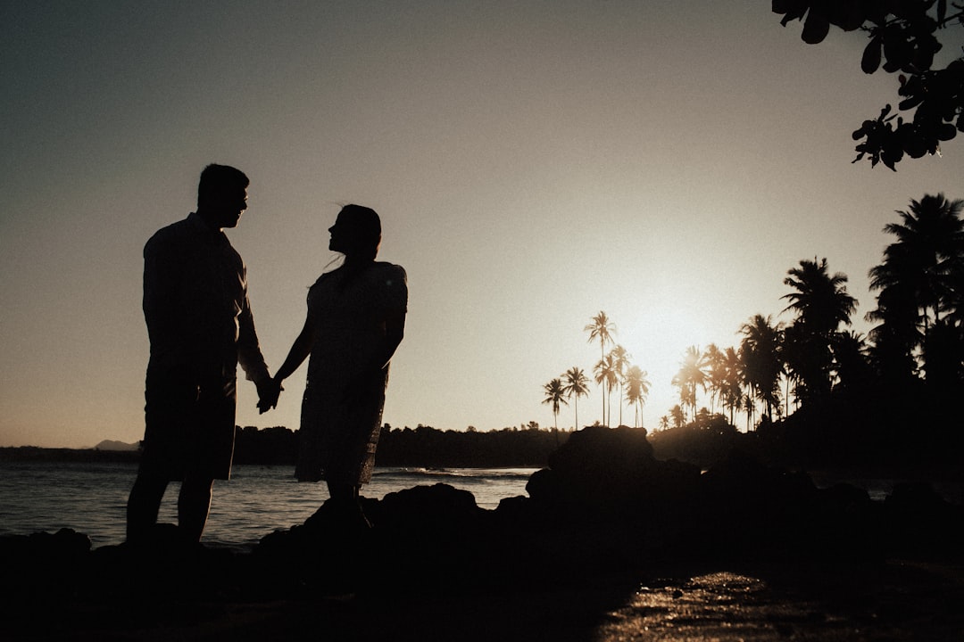
[[[865,336],[845,329],[857,308],[847,276],[827,260],[802,260],[788,271],[783,298],[789,322],[755,315],[739,332],[736,348],[687,350],[674,379],[681,400],[695,413],[696,390],[752,422],[756,402],[763,419],[793,409],[825,406],[833,398],[927,398],[945,406],[964,383],[964,201],[944,194],[912,200],[883,260],[870,269],[875,323]],[[732,417],[732,414],[731,414]]]

